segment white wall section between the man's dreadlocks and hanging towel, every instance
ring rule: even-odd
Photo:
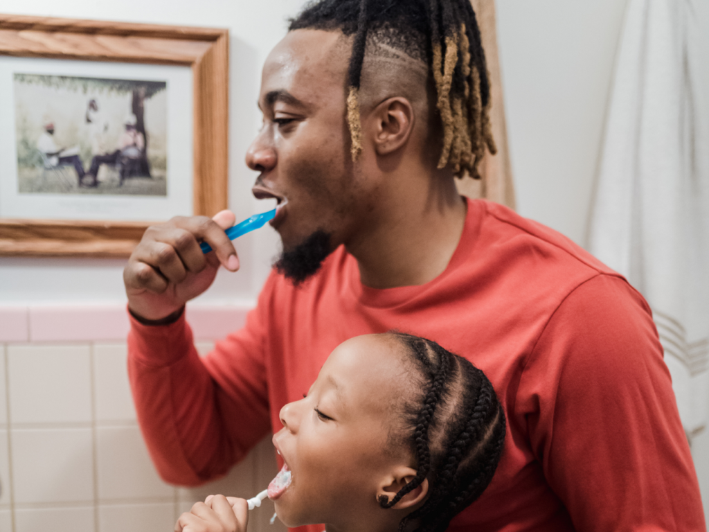
[[[518,211],[583,244],[627,0],[498,0]]]

